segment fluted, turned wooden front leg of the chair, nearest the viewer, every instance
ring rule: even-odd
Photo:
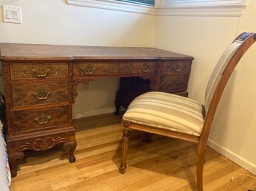
[[[121,165],[119,172],[121,174],[125,174],[126,169],[126,161],[127,161],[127,154],[128,154],[128,142],[129,142],[129,135],[130,128],[127,122],[124,122],[123,130],[122,130],[122,157],[121,157]]]

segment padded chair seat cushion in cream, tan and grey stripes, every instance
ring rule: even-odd
[[[135,98],[123,120],[200,136],[205,119],[201,103],[187,97],[151,91]]]

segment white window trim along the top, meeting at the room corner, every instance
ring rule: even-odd
[[[241,16],[246,0],[156,0],[155,7],[115,0],[67,0],[68,4],[153,16]]]

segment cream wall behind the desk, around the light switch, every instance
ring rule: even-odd
[[[89,7],[63,0],[0,0],[22,7],[22,24],[0,22],[0,42],[55,45],[149,46],[154,39],[155,17]],[[2,7],[1,7],[2,17]],[[114,111],[119,79],[78,85],[73,117]]]

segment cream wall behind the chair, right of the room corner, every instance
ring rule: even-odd
[[[159,16],[154,46],[195,57],[190,97],[204,103],[205,87],[219,56],[243,31],[256,32],[256,1],[241,17]],[[256,45],[228,82],[210,132],[209,146],[256,174]]]

